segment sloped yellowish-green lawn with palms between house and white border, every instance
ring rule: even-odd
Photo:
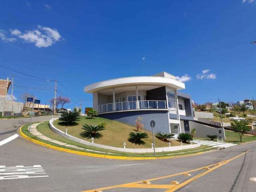
[[[124,124],[121,122],[117,122],[114,120],[109,120],[105,118],[100,117],[94,117],[93,119],[90,119],[86,116],[80,116],[80,121],[78,121],[78,125],[76,126],[62,126],[59,124],[59,120],[54,121],[54,126],[63,132],[65,132],[65,129],[68,128],[68,134],[80,138],[86,141],[91,142],[90,139],[82,138],[79,134],[82,132],[82,125],[84,124],[100,124],[101,122],[106,123],[106,130],[101,131],[103,134],[103,137],[100,139],[94,140],[97,144],[104,144],[108,146],[114,146],[114,147],[123,147],[123,143],[126,142],[126,148],[151,148],[152,143],[152,134],[151,132],[147,130],[143,130],[143,132],[146,132],[148,134],[148,138],[143,139],[146,144],[144,145],[135,145],[128,141],[129,133],[130,132],[136,132],[136,127],[130,126],[128,124]],[[171,140],[172,146],[179,146],[181,145],[180,142],[176,140]],[[168,147],[168,142],[163,142],[161,140],[158,140],[155,138],[155,144],[156,147]]]

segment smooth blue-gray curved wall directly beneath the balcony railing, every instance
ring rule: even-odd
[[[150,121],[154,120],[156,126],[154,127],[154,132],[165,132],[169,133],[169,120],[168,111],[166,110],[142,110],[142,111],[128,111],[128,112],[115,112],[107,114],[99,114],[98,116],[118,120],[130,125],[135,126],[135,121],[138,116],[142,117],[142,124],[144,124],[144,129],[151,131]]]

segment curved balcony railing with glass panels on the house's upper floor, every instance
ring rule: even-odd
[[[114,106],[114,107],[113,107]],[[125,101],[118,103],[108,103],[98,105],[98,113],[138,110],[138,109],[166,109],[166,101],[144,100],[144,101]]]

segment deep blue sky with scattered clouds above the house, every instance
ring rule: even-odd
[[[187,80],[195,102],[236,102],[256,98],[255,14],[256,0],[2,0],[0,64],[57,79],[67,108],[92,105],[88,84],[162,71]],[[0,68],[13,74],[18,100],[53,97],[53,82]]]

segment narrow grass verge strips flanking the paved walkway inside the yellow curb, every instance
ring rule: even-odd
[[[28,126],[29,124],[26,124],[22,127],[22,132],[30,137],[33,138],[35,140],[47,143],[47,144],[51,144],[53,146],[57,146],[57,147],[61,147],[61,148],[66,148],[66,149],[71,149],[71,150],[76,150],[76,151],[82,151],[85,152],[85,150],[79,150],[79,149],[75,149],[75,148],[70,148],[67,146],[61,146],[52,142],[48,142],[46,140],[42,140],[36,136],[33,136],[30,132],[28,132]],[[39,132],[41,132],[42,134],[44,134],[45,136],[48,136],[52,139],[56,139],[59,140],[61,142],[65,142],[67,144],[71,144],[71,145],[75,145],[78,147],[82,147],[85,149],[91,149],[91,150],[98,150],[98,151],[102,151],[102,152],[109,152],[109,153],[114,153],[114,154],[108,154],[108,155],[114,155],[114,156],[135,156],[135,157],[151,157],[154,156],[153,153],[125,153],[125,152],[120,152],[120,151],[113,151],[113,150],[106,150],[106,149],[102,149],[102,148],[96,148],[96,147],[92,147],[92,146],[88,146],[88,145],[84,145],[78,142],[74,142],[72,140],[68,140],[64,137],[59,136],[58,134],[52,132],[52,130],[50,130],[49,126],[48,126],[48,122],[44,122],[42,124],[40,124],[39,126],[37,126],[37,130]],[[158,152],[156,153],[156,156],[178,156],[178,155],[186,155],[186,154],[194,154],[194,153],[198,153],[198,152],[205,152],[205,151],[209,151],[212,150],[213,148],[207,147],[207,146],[200,146],[197,148],[193,148],[193,149],[186,149],[186,150],[178,150],[178,151],[173,151],[173,152]],[[90,152],[90,153],[95,153],[95,154],[102,154],[102,153],[97,153],[97,152]]]

